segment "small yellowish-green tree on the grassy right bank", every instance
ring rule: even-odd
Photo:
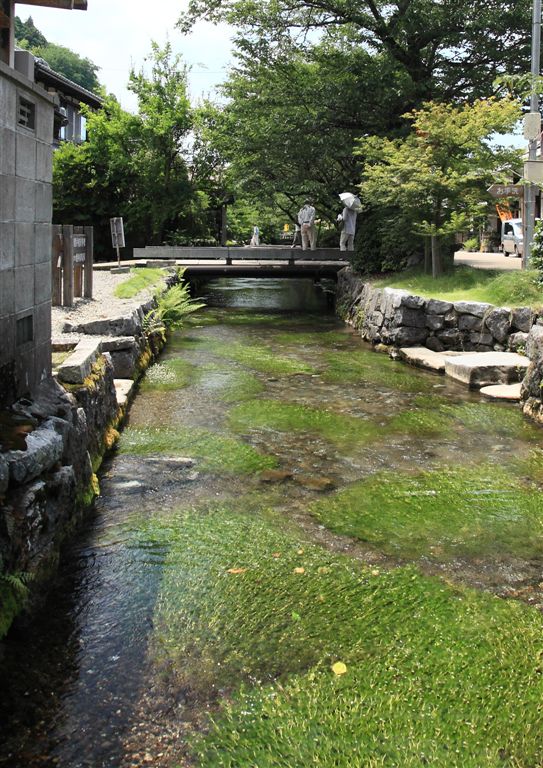
[[[518,150],[495,145],[495,135],[510,132],[519,117],[512,99],[427,103],[406,115],[412,125],[406,139],[361,140],[365,201],[397,206],[411,228],[430,239],[434,277],[443,270],[443,237],[466,228],[496,174],[521,162]]]

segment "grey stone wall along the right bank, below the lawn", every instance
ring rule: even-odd
[[[338,274],[336,303],[338,314],[366,341],[434,352],[523,350],[531,328],[543,324],[543,316],[529,307],[439,301],[375,288],[350,267]]]

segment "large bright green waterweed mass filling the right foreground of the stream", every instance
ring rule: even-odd
[[[150,655],[202,706],[222,694],[200,768],[542,764],[538,612],[232,510],[148,525],[168,547]]]

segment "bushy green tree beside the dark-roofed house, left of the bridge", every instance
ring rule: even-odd
[[[138,114],[110,96],[103,109],[86,110],[88,140],[54,154],[55,221],[92,224],[102,255],[111,248],[110,217],[123,216],[129,247],[160,244],[191,231],[203,204],[185,160],[192,126],[186,70],[169,45],[153,44],[149,61],[150,76],[130,75]]]

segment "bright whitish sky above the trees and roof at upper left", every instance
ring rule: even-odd
[[[230,60],[227,27],[198,24],[185,37],[176,29],[188,0],[88,0],[87,11],[39,8],[18,2],[17,16],[29,16],[51,43],[65,45],[100,67],[98,77],[125,109],[135,110],[136,99],[126,90],[132,66],[139,70],[151,50],[151,40],[167,40],[192,66],[189,75],[193,101],[213,95],[226,75]]]

